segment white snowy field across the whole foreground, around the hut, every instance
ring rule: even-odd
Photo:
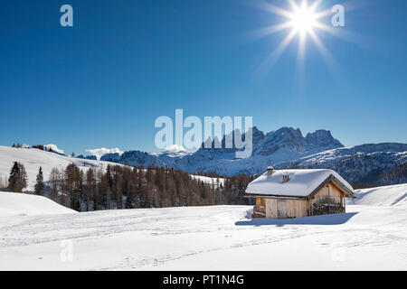
[[[0,269],[406,270],[406,194],[361,190],[346,214],[252,220],[246,206],[76,213],[21,195],[24,208],[0,192]]]

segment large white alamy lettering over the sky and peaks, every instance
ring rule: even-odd
[[[186,150],[203,148],[235,149],[238,159],[248,158],[252,152],[252,117],[186,117],[184,110],[175,109],[175,124],[171,117],[157,117],[155,144],[158,149],[171,146]],[[184,134],[184,129],[188,130]],[[244,133],[242,133],[244,132]],[[204,137],[204,145],[203,144]]]

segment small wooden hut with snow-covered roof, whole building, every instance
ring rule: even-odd
[[[245,197],[255,198],[253,218],[289,219],[345,213],[354,189],[332,170],[274,170],[251,182]]]

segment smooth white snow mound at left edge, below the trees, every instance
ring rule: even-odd
[[[75,210],[62,207],[45,197],[0,191],[0,218],[75,213],[77,213]]]

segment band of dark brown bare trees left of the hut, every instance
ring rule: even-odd
[[[252,180],[241,174],[208,183],[181,170],[119,164],[84,172],[71,163],[63,170],[53,168],[48,182],[40,167],[34,192],[78,211],[238,205],[246,204],[242,194]],[[26,185],[24,165],[15,162],[8,191],[21,192]]]

